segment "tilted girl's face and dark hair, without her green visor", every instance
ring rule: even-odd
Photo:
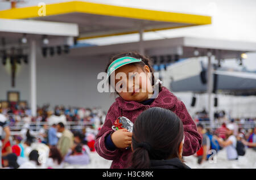
[[[115,60],[123,57],[141,59],[142,61],[117,68],[113,72],[115,78],[113,80],[109,78],[109,84],[113,84],[115,92],[126,101],[141,102],[146,100],[152,94],[152,85],[155,82],[154,70],[150,65],[149,58],[136,52],[117,54],[110,59],[105,72],[108,72],[109,66]],[[123,78],[122,75],[125,75],[126,78]]]

